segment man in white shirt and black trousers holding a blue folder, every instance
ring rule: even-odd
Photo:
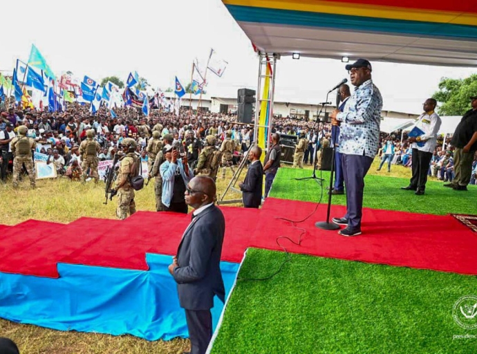
[[[426,189],[427,171],[431,163],[432,153],[436,149],[437,135],[441,120],[434,112],[437,101],[428,98],[424,102],[424,113],[420,115],[414,128],[409,132],[408,141],[412,143],[412,171],[413,176],[405,190],[413,190],[417,196],[422,196]]]

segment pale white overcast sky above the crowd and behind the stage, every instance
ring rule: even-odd
[[[185,86],[195,57],[205,62],[210,48],[228,62],[222,77],[207,74],[207,93],[236,97],[238,88],[256,88],[258,59],[250,39],[220,0],[82,0],[66,8],[59,0],[4,1],[0,70],[12,71],[16,59],[28,61],[35,44],[56,75],[72,71],[95,80],[116,75],[124,82],[138,71],[154,88]],[[21,21],[19,21],[21,19]],[[40,21],[39,21],[40,19]],[[5,32],[4,32],[5,33]],[[422,102],[438,89],[441,77],[463,78],[477,68],[449,68],[376,62],[373,81],[384,109],[420,113]],[[326,92],[348,77],[333,59],[282,57],[277,62],[275,101],[324,102]],[[333,101],[333,99],[329,99]]]

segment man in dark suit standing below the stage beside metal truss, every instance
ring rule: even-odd
[[[243,192],[242,199],[244,207],[259,208],[262,202],[263,166],[260,161],[260,156],[262,156],[262,149],[258,146],[252,147],[248,153],[248,160],[252,163],[250,163],[248,167],[245,180],[238,185]]]

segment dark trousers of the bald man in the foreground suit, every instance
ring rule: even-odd
[[[185,319],[191,340],[191,354],[204,354],[212,339],[210,310],[185,310]]]

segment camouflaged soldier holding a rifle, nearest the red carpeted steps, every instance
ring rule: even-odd
[[[134,139],[126,138],[122,140],[122,152],[118,178],[116,179],[115,191],[118,192],[118,209],[116,216],[120,220],[127,218],[128,214],[135,213],[134,189],[131,186],[131,178],[139,174],[139,158],[135,154],[138,146]]]

